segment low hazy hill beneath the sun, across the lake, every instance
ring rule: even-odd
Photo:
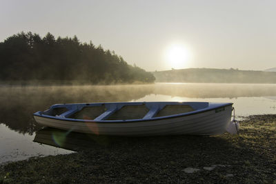
[[[275,72],[189,68],[152,72],[156,82],[174,83],[276,83]]]

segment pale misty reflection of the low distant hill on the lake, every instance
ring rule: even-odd
[[[155,94],[188,98],[237,98],[276,96],[275,84],[228,84],[228,83],[157,83]]]

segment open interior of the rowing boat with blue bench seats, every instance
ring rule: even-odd
[[[81,103],[52,105],[42,114],[68,119],[124,121],[183,114],[206,107],[205,102]]]

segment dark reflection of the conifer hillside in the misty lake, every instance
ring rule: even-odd
[[[32,118],[56,103],[131,101],[152,93],[150,85],[1,87],[0,123],[22,134],[41,128]]]

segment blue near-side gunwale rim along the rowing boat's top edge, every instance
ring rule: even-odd
[[[104,104],[104,103],[103,103]],[[66,104],[66,105],[70,105],[70,104]],[[46,114],[40,114],[41,111],[39,112],[35,112],[33,114],[33,116],[39,116],[39,117],[43,117],[46,119],[56,119],[59,121],[70,121],[70,122],[83,122],[83,123],[135,123],[135,122],[144,122],[144,121],[156,121],[156,120],[161,120],[161,119],[174,119],[174,118],[178,118],[181,116],[191,116],[191,115],[195,115],[195,114],[201,114],[203,112],[208,112],[208,111],[212,111],[212,110],[216,110],[219,108],[224,108],[227,106],[232,106],[233,103],[213,103],[212,105],[215,105],[215,107],[210,107],[210,105],[207,108],[203,108],[200,110],[195,110],[192,112],[184,112],[184,113],[180,113],[180,114],[173,114],[173,115],[169,115],[169,116],[159,116],[159,117],[152,117],[150,119],[127,119],[127,120],[100,120],[100,121],[95,121],[94,119],[70,119],[70,118],[63,118],[60,116],[49,116]]]

